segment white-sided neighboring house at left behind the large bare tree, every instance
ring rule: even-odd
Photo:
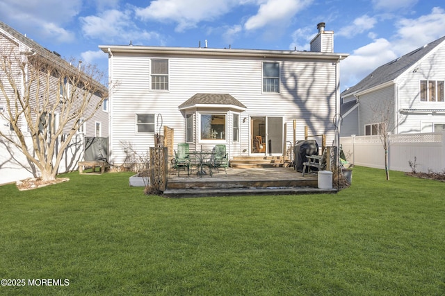
[[[1,21],[0,53],[5,65],[0,67],[0,184],[38,177],[40,172],[35,163],[17,148],[22,146],[20,134],[28,150],[37,150],[31,141],[33,128],[38,129],[38,133],[51,129],[54,131],[51,137],[58,130],[62,130],[60,137],[72,130],[76,132],[77,141],[72,141],[70,149],[65,150],[58,173],[75,170],[77,160],[83,156],[83,138],[108,137],[108,101],[95,112],[108,89],[58,53],[45,49]],[[82,112],[85,117],[77,120],[73,114],[81,108],[83,98],[88,98],[90,105]],[[31,121],[40,121],[40,124],[30,124]],[[81,122],[80,127],[73,128],[74,122]],[[38,151],[42,151],[41,146]]]

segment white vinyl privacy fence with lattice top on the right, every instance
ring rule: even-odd
[[[341,137],[348,162],[356,166],[385,169],[385,150],[379,136]],[[442,173],[445,170],[445,130],[439,133],[392,134],[389,137],[389,169]]]

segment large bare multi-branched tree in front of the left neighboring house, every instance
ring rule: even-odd
[[[0,137],[38,168],[42,181],[55,180],[72,137],[108,96],[98,82],[103,74],[17,46],[3,46],[0,54],[1,116],[11,127]]]

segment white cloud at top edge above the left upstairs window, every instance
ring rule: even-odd
[[[225,15],[239,1],[234,0],[154,0],[146,8],[136,8],[143,20],[177,23],[176,31],[194,28],[200,21],[211,21]]]

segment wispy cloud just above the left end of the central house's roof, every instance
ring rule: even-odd
[[[140,30],[132,21],[131,10],[106,10],[100,15],[81,17],[82,31],[86,37],[107,42],[133,44],[146,40],[159,40],[158,33]]]

